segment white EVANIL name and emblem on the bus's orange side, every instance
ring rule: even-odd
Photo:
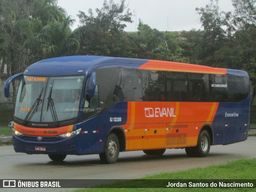
[[[174,108],[144,108],[146,117],[176,117]]]

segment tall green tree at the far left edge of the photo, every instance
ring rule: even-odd
[[[38,26],[35,20],[29,19],[31,9],[32,5],[26,0],[0,1],[0,57],[6,63],[10,75],[20,71],[28,60],[22,41]]]

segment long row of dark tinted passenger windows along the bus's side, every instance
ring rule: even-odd
[[[240,102],[248,96],[247,77],[138,69],[118,69],[117,76],[114,101]]]

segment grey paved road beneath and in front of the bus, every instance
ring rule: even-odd
[[[147,156],[142,151],[122,152],[116,164],[101,164],[98,155],[67,156],[54,163],[47,155],[15,153],[12,146],[0,146],[0,179],[130,179],[159,172],[225,164],[239,158],[256,158],[256,137],[231,145],[211,146],[206,158],[189,158],[184,149],[166,150],[163,156]],[[35,189],[1,189],[32,192]],[[36,189],[59,192],[60,189]],[[61,189],[66,191],[66,189]]]

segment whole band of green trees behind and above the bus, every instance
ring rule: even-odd
[[[0,58],[8,66],[8,75],[24,71],[35,61],[63,55],[196,63],[246,70],[255,88],[256,0],[232,3],[234,12],[220,11],[218,0],[196,8],[204,30],[160,32],[140,19],[138,32],[128,34],[124,29],[133,13],[125,0],[104,0],[95,12],[80,11],[80,27],[74,32],[70,30],[74,18],[66,16],[57,0],[1,0]]]

